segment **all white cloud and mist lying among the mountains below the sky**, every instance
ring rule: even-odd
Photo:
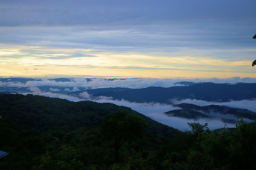
[[[208,123],[210,129],[216,128],[234,128],[235,123],[223,123],[221,119],[199,119],[199,120],[188,120],[185,118],[176,118],[164,114],[167,111],[172,111],[178,109],[172,105],[161,104],[161,103],[134,103],[124,100],[112,100],[111,98],[100,97],[100,98],[90,98],[90,95],[86,91],[81,92],[78,96],[73,96],[70,94],[60,94],[58,87],[66,87],[66,91],[80,91],[80,88],[85,89],[98,89],[98,88],[107,88],[107,87],[127,87],[132,89],[145,88],[148,86],[161,86],[161,87],[170,87],[170,86],[181,86],[181,84],[176,84],[179,81],[191,81],[191,82],[214,82],[214,83],[228,83],[236,84],[240,82],[244,83],[256,83],[256,79],[253,78],[240,78],[233,77],[230,79],[105,79],[105,78],[93,78],[93,79],[84,79],[84,78],[70,78],[70,81],[55,81],[54,79],[35,79],[33,81],[26,81],[21,83],[18,81],[0,81],[0,86],[12,86],[12,87],[27,87],[31,92],[23,94],[35,94],[41,96],[63,98],[69,101],[96,101],[99,103],[114,103],[118,106],[127,106],[132,108],[134,111],[142,113],[147,117],[156,120],[159,123],[164,125],[169,125],[178,130],[189,130],[188,123]],[[41,91],[38,86],[54,86],[50,91]],[[207,106],[210,104],[220,105],[220,106],[230,106],[235,108],[245,108],[250,111],[256,112],[256,101],[242,100],[242,101],[229,101],[229,102],[209,102],[209,101],[200,101],[194,99],[184,99],[182,101],[174,101],[174,103],[192,103],[198,106]]]

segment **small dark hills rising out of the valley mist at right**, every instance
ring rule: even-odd
[[[174,106],[181,109],[168,111],[166,115],[193,120],[200,118],[219,118],[223,120],[224,123],[235,123],[238,118],[256,120],[256,113],[248,111],[247,109],[218,105],[197,106],[189,103],[181,103]]]

